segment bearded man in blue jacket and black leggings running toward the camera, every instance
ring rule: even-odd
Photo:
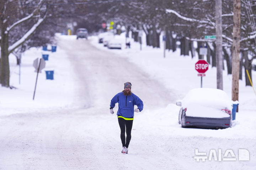
[[[134,112],[141,112],[143,110],[143,102],[138,96],[131,91],[132,84],[130,82],[124,83],[124,90],[116,94],[110,102],[110,113],[113,114],[113,108],[118,103],[117,119],[121,130],[121,142],[123,145],[122,153],[128,153],[128,146],[132,138],[132,125]],[[134,105],[137,108],[134,109]],[[126,136],[125,136],[126,132]]]

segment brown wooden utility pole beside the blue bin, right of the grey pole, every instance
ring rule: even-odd
[[[234,0],[233,6],[233,45],[232,45],[232,100],[238,100],[239,94],[239,64],[240,64],[240,27],[241,0]],[[238,109],[237,109],[238,111]]]

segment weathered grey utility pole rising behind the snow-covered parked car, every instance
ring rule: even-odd
[[[216,57],[217,89],[223,90],[223,56],[222,56],[222,0],[215,0],[216,15]]]

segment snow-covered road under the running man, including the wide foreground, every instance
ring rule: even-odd
[[[237,126],[181,128],[175,90],[166,89],[125,56],[74,36],[60,38],[58,48],[65,50],[74,68],[73,89],[66,89],[75,92],[73,107],[1,116],[1,170],[255,169],[254,136],[236,134]],[[127,81],[143,100],[144,110],[135,113],[128,154],[121,154],[120,129],[109,104]],[[195,149],[207,155],[210,149],[222,149],[222,157],[232,149],[238,159],[240,148],[249,148],[250,161],[194,159]]]

